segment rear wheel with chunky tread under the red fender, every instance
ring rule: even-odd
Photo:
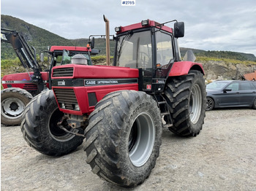
[[[200,71],[189,71],[181,77],[172,77],[165,87],[173,127],[169,130],[179,136],[197,136],[206,116],[206,85]]]

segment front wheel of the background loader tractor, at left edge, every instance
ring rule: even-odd
[[[1,124],[20,125],[25,106],[33,96],[19,87],[1,90]]]

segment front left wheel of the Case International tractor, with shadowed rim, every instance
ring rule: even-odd
[[[64,113],[59,111],[53,90],[47,90],[26,106],[20,128],[30,147],[45,155],[66,155],[83,143],[83,137],[66,133],[57,127]],[[83,130],[68,128],[74,133]]]

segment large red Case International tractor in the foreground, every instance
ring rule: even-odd
[[[52,69],[52,90],[26,106],[21,130],[45,155],[66,155],[85,138],[92,172],[135,187],[159,156],[162,128],[197,136],[206,112],[200,63],[181,61],[174,28],[143,20],[116,28],[113,66],[67,64]]]

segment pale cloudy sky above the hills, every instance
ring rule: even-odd
[[[110,34],[116,26],[151,19],[159,23],[185,23],[181,47],[226,50],[256,55],[256,4],[253,0],[135,0],[121,6],[121,0],[1,0],[1,14],[25,20],[67,39],[105,34],[102,15],[110,20]],[[173,27],[173,23],[170,24]]]

